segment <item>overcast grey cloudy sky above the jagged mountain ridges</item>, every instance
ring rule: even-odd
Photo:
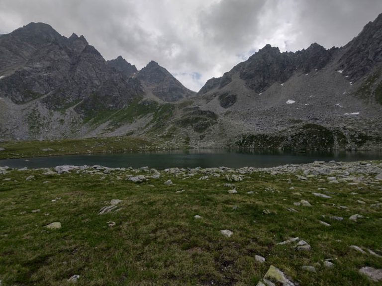
[[[382,0],[0,0],[0,34],[45,22],[106,60],[154,60],[197,91],[267,43],[343,46],[381,12]]]

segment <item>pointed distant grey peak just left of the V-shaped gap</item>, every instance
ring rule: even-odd
[[[140,70],[136,78],[139,79],[153,95],[167,102],[175,102],[196,94],[185,88],[172,74],[154,61],[151,61],[146,67]]]

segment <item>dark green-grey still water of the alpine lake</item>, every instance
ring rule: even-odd
[[[0,166],[11,168],[50,168],[59,165],[102,165],[106,167],[148,166],[156,169],[210,168],[225,166],[241,167],[275,167],[286,164],[311,163],[314,161],[360,161],[382,160],[381,151],[349,151],[349,152],[259,152],[223,149],[191,149],[145,153],[123,154],[90,154],[54,157],[38,157],[0,160]]]

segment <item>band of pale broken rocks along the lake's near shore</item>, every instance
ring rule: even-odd
[[[339,182],[348,182],[349,184],[358,184],[361,182],[369,182],[370,180],[382,180],[382,162],[381,161],[357,161],[357,162],[324,162],[314,161],[308,164],[288,164],[270,168],[243,167],[239,169],[231,169],[227,167],[215,168],[169,168],[165,170],[157,170],[149,167],[134,169],[128,168],[109,168],[100,165],[94,166],[72,166],[62,165],[55,168],[39,168],[39,169],[11,169],[9,167],[0,167],[0,175],[5,175],[12,171],[42,171],[43,175],[60,175],[64,173],[75,172],[77,174],[89,175],[108,175],[118,173],[125,175],[129,181],[141,183],[148,179],[159,179],[163,175],[172,175],[177,178],[195,178],[199,180],[207,180],[209,177],[224,177],[229,182],[240,182],[245,175],[256,172],[264,172],[273,176],[277,175],[295,175],[301,181],[309,180],[309,178],[327,177],[331,184]],[[328,177],[330,176],[330,177]],[[334,177],[336,176],[336,177]],[[122,177],[121,177],[122,179]]]

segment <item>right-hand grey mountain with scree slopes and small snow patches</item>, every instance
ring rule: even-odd
[[[191,146],[382,147],[382,15],[346,46],[266,45],[178,110],[166,136]]]

